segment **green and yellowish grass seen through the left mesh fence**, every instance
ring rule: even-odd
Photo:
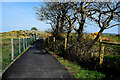
[[[21,52],[23,51],[23,40],[21,39]],[[19,40],[14,39],[14,58],[16,58],[19,55]],[[11,39],[10,38],[4,38],[2,39],[2,70],[4,70],[11,62]],[[26,44],[25,44],[26,46]],[[1,65],[0,65],[1,66]]]

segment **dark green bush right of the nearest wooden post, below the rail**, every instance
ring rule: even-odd
[[[101,65],[101,71],[108,75],[116,75],[120,74],[120,55],[109,55],[104,56],[103,63]]]

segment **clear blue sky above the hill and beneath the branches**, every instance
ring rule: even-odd
[[[30,30],[32,27],[45,31],[50,27],[49,24],[37,20],[33,10],[38,4],[43,2],[2,2],[2,30],[8,32],[13,30]],[[91,24],[85,28],[85,32],[98,32],[99,28]],[[118,26],[105,30],[104,33],[118,33]]]

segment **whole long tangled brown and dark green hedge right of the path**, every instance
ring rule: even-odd
[[[83,37],[80,41],[77,41],[77,37],[78,36],[73,35],[70,38],[70,41],[67,43],[66,50],[64,49],[65,38],[62,36],[56,38],[55,50],[57,52],[55,53],[59,52],[58,55],[62,56],[63,58],[75,61],[84,68],[90,70],[99,70],[100,72],[105,73],[107,76],[111,76],[112,74],[118,75],[118,73],[120,73],[120,46],[105,44],[106,56],[104,56],[102,65],[99,66],[99,42],[95,43],[94,45],[92,44],[92,39],[89,37]],[[49,40],[49,44],[51,45],[49,45],[49,49],[54,50],[53,37],[49,38]],[[90,45],[94,46],[92,46],[90,51],[87,51]]]

